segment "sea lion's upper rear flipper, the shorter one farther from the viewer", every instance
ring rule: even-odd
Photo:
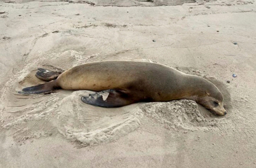
[[[51,81],[58,78],[63,71],[49,71],[43,68],[37,69],[36,77],[40,80]]]

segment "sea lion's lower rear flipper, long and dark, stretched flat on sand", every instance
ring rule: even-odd
[[[19,91],[20,94],[40,94],[40,93],[47,93],[54,89],[56,89],[56,80],[52,80],[46,82],[44,84],[31,86],[28,88],[23,88],[22,91]]]

